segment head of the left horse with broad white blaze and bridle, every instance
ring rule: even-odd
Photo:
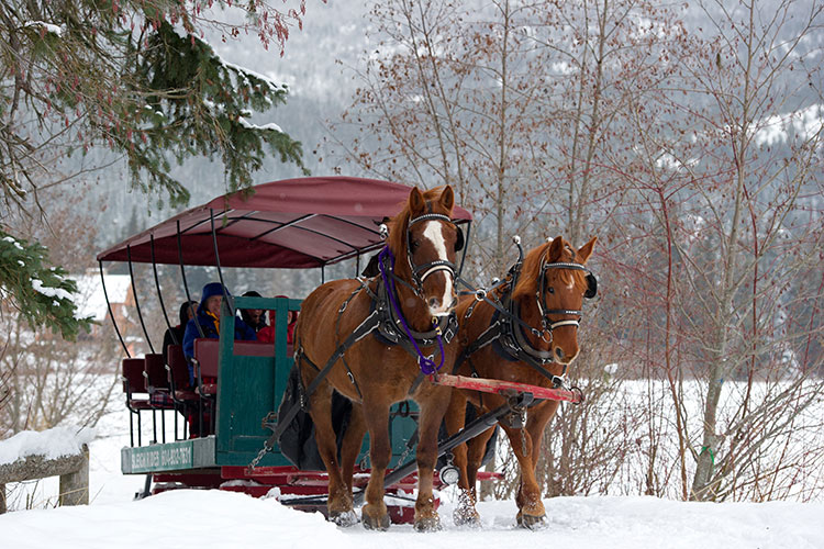
[[[455,194],[448,184],[421,192],[412,189],[401,212],[389,222],[389,247],[396,256],[396,276],[410,281],[430,317],[448,315],[457,304],[455,257],[458,229],[452,222]],[[414,298],[398,288],[402,306]]]

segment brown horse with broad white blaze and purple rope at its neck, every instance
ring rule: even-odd
[[[383,256],[383,268],[393,272],[386,279],[379,276],[363,283],[356,279],[327,282],[303,301],[296,327],[296,348],[299,349],[296,359],[303,386],[314,381],[338,346],[347,336],[363,329],[368,317],[376,311],[393,306],[392,296],[396,296],[396,307],[401,310],[408,324],[407,333],[431,334],[435,322],[443,323],[454,313],[457,303],[454,262],[455,248],[458,247],[458,232],[450,222],[454,201],[448,186],[424,193],[413,189],[401,212],[388,222],[387,247],[397,260]],[[392,282],[385,284],[383,280]],[[387,285],[394,285],[396,293],[386,292]],[[387,298],[381,299],[381,295]],[[400,324],[394,326],[398,333],[402,332]],[[428,346],[419,341],[422,354],[432,357],[430,360],[434,360],[435,367],[442,358],[445,368],[452,368],[455,343],[442,341],[442,351],[431,341]],[[411,397],[421,411],[414,525],[419,530],[439,528],[433,505],[432,477],[438,427],[449,404],[450,389],[433,385],[426,380],[421,382],[419,360],[402,345],[390,345],[369,333],[346,349],[309,395],[318,448],[329,472],[329,515],[339,525],[356,522],[352,477],[364,434],[368,430],[371,474],[361,519],[367,528],[389,527],[383,504],[383,475],[391,459],[389,408],[393,403]],[[333,390],[355,403],[339,462],[331,421]]]

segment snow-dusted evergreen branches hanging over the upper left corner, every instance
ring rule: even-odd
[[[189,197],[189,183],[169,175],[171,161],[220,160],[229,191],[249,187],[266,155],[303,166],[300,143],[277,124],[250,121],[282,105],[287,87],[224,61],[202,37],[207,30],[224,40],[252,32],[282,54],[290,26],[301,24],[304,2],[276,9],[252,0],[236,8],[245,19],[230,23],[232,14],[222,10],[232,3],[0,4],[0,229],[7,238],[0,288],[3,300],[12,300],[27,318],[66,337],[82,325],[70,300],[57,295],[70,293],[71,282],[58,280],[59,270],[49,274],[46,250],[7,224],[12,211],[42,213],[40,191],[94,167],[79,163],[66,173],[58,169],[66,157],[120,155],[132,188],[171,204]],[[29,280],[41,280],[40,291]]]

